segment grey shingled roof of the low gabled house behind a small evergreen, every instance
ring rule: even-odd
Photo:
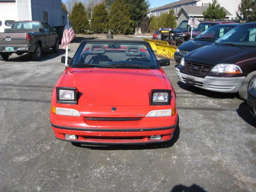
[[[203,16],[203,11],[205,11],[208,7],[204,6],[187,6],[187,5],[182,5],[178,13],[176,13],[176,16],[178,16],[181,12],[182,9],[188,14],[188,16]],[[223,7],[224,8],[224,7]],[[226,10],[226,16],[232,16],[228,10]]]

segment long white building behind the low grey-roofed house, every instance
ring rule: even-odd
[[[157,8],[148,10],[149,16],[160,16],[162,13],[168,13],[170,9],[174,10],[174,14],[178,14],[182,6],[205,6],[208,7],[212,0],[179,0],[166,4]],[[240,11],[241,0],[218,0],[221,7],[224,7],[228,13],[228,19],[234,19],[236,12]]]

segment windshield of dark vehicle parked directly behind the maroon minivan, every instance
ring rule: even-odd
[[[207,30],[199,34],[198,36],[196,36],[195,40],[202,39],[202,38],[216,40],[222,37],[224,34],[229,32],[230,30],[232,30],[234,27],[235,26],[231,26],[231,25],[226,25],[226,26],[214,25],[211,28],[208,28]]]

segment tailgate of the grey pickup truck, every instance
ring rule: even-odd
[[[0,33],[0,46],[26,46],[26,33]]]

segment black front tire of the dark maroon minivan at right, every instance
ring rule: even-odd
[[[244,79],[242,85],[238,90],[238,94],[242,100],[247,100],[247,94],[249,88],[252,87],[252,82],[256,78],[256,71],[249,73]]]

